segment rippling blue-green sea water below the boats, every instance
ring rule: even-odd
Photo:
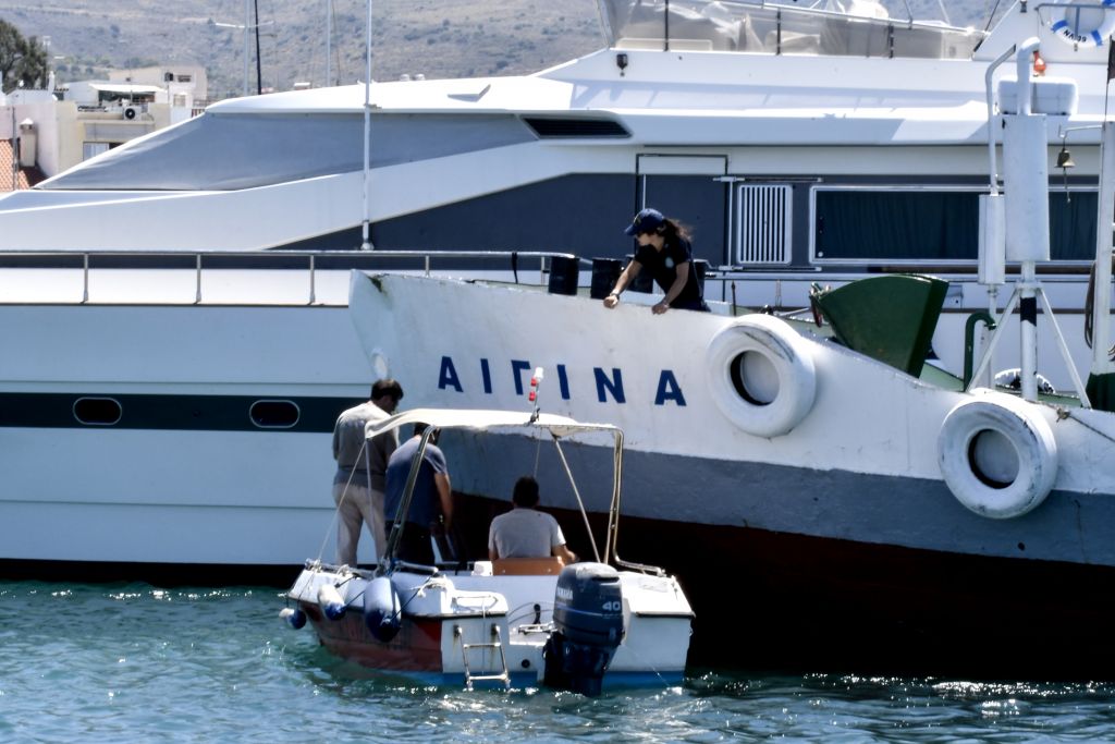
[[[1115,741],[1101,683],[694,669],[594,699],[411,685],[331,657],[283,606],[268,588],[0,582],[0,742]]]

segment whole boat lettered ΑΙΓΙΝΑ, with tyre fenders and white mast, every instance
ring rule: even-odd
[[[1048,122],[1030,93],[1056,94],[1059,84],[1031,80],[1039,46],[1027,40],[1000,60],[1026,85],[1017,113],[995,119],[1005,186],[992,178],[982,200],[980,272],[1001,281],[1015,262],[1019,273],[1005,307],[968,323],[972,350],[981,322],[993,331],[962,376],[927,363],[948,282],[909,274],[817,288],[814,320],[723,306],[723,315],[658,316],[649,308],[658,298],[631,292],[609,310],[584,293],[356,272],[350,309],[369,359],[429,406],[513,405],[523,375],[544,366],[555,413],[621,426],[628,487],[639,494],[624,506],[626,544],[676,545],[665,567],[692,598],[702,658],[743,651],[750,665],[1109,675],[1115,124],[1101,132],[1094,248],[1104,289],[1087,310],[1090,375],[1085,384],[1051,332],[1075,393],[1050,393],[1036,363],[1038,308],[1056,331],[1036,272],[1049,255]],[[1007,338],[1017,339],[1020,389],[988,374]],[[501,463],[468,470],[483,446],[455,450],[454,483],[500,499]],[[607,464],[602,451],[582,457]],[[723,611],[729,590],[752,609]],[[719,642],[726,637],[766,642]]]

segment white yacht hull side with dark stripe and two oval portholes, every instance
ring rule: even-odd
[[[331,559],[332,425],[372,380],[347,309],[322,300],[4,307],[2,570],[285,582]]]

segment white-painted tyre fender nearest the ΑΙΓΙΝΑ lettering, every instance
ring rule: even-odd
[[[813,408],[817,384],[809,346],[783,320],[744,316],[709,341],[706,361],[712,399],[748,434],[780,436]]]

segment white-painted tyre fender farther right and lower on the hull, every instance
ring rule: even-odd
[[[979,390],[944,417],[937,437],[941,475],[957,500],[991,519],[1020,516],[1045,501],[1057,477],[1057,441],[1036,406]]]

